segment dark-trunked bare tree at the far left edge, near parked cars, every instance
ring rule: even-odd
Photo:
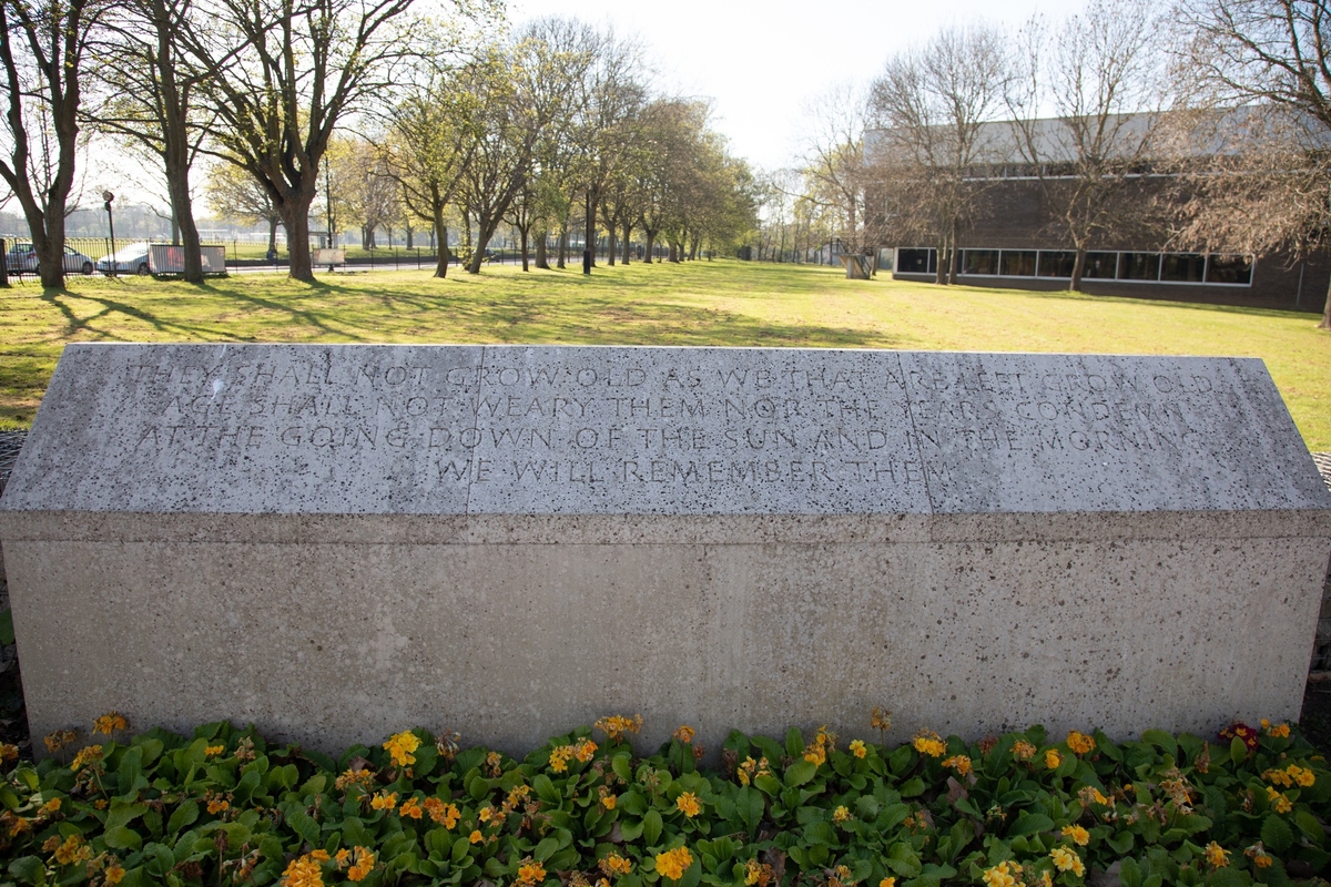
[[[101,0],[3,0],[7,158],[0,178],[19,199],[43,287],[65,283],[65,214],[75,184],[85,55]]]

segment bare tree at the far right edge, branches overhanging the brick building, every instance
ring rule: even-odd
[[[1231,128],[1238,149],[1214,152],[1218,169],[1206,176],[1226,189],[1194,180],[1219,203],[1194,214],[1190,234],[1258,254],[1326,249],[1331,8],[1324,0],[1183,0],[1175,17],[1193,36],[1183,60],[1191,97],[1266,109],[1264,124]],[[1319,328],[1331,330],[1331,287]]]

